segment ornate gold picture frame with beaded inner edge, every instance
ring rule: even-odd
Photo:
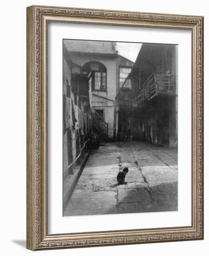
[[[47,22],[192,31],[192,225],[47,234]],[[203,17],[27,7],[27,248],[31,250],[203,239]],[[70,230],[69,230],[70,232]]]

